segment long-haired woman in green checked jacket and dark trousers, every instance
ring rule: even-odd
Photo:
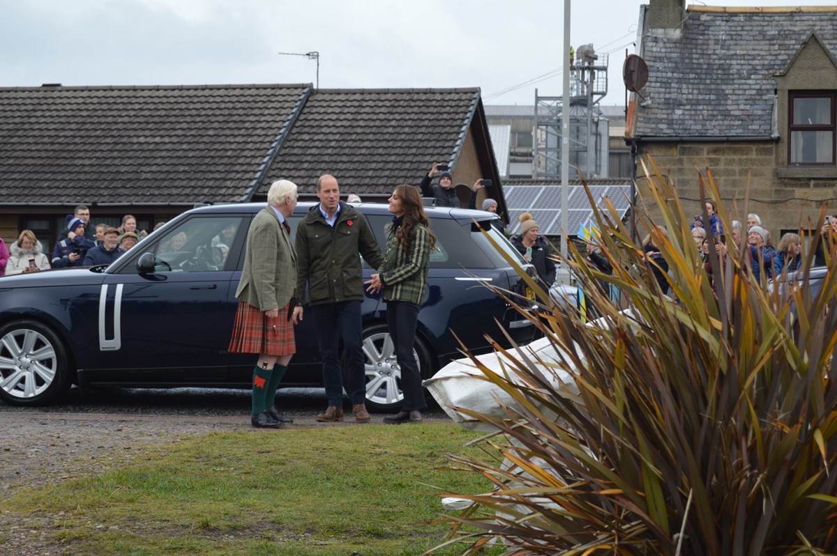
[[[387,326],[401,367],[404,402],[402,411],[385,416],[383,422],[398,425],[421,422],[421,411],[427,407],[419,364],[413,356],[413,339],[419,309],[427,293],[430,251],[436,246],[436,237],[430,231],[419,190],[415,187],[396,186],[389,197],[389,212],[395,216],[387,227],[383,265],[367,283],[369,291],[383,289],[383,299],[387,302]]]

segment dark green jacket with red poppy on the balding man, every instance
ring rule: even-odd
[[[311,207],[296,227],[295,248],[299,261],[296,291],[301,298],[308,283],[311,307],[363,300],[363,271],[357,253],[372,268],[383,263],[366,217],[342,201],[334,227],[322,216],[320,205]]]

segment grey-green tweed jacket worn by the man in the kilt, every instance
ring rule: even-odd
[[[244,270],[235,297],[261,312],[281,309],[294,297],[296,252],[274,210],[264,207],[247,232]]]

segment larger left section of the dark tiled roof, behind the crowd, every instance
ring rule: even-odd
[[[239,201],[310,88],[0,89],[0,202]]]

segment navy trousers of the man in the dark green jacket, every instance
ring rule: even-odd
[[[346,393],[352,405],[366,402],[366,369],[363,365],[363,321],[360,301],[341,301],[311,307],[316,324],[316,342],[322,358],[322,381],[329,406],[343,406],[343,374],[339,340],[346,353],[348,384]]]

